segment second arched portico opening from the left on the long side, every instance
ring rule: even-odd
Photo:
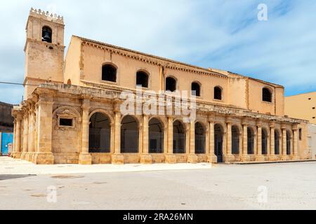
[[[121,121],[121,153],[138,153],[138,123],[132,116]]]

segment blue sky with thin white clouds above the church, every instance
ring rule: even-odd
[[[268,6],[259,21],[258,4]],[[316,91],[316,1],[91,0],[3,1],[0,81],[22,83],[29,9],[63,15],[72,34],[284,85],[286,95]],[[0,101],[23,88],[0,84]]]

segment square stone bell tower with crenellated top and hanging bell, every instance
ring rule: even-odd
[[[25,43],[25,96],[41,83],[63,83],[63,18],[42,10],[29,11]]]

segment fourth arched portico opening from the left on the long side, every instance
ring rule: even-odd
[[[173,153],[185,153],[185,127],[178,120],[173,123]]]

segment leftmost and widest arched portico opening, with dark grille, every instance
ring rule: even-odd
[[[103,113],[95,113],[90,118],[89,153],[110,153],[110,119]]]

